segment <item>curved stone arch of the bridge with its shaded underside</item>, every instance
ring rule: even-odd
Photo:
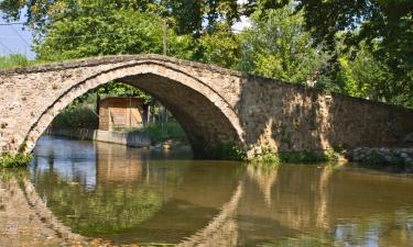
[[[111,66],[56,96],[25,136],[31,151],[53,119],[76,98],[113,80],[132,85],[160,100],[177,119],[196,154],[208,156],[221,142],[244,147],[243,130],[229,102],[208,83],[183,70],[156,60],[134,60]]]

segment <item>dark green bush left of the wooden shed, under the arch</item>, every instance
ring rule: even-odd
[[[52,122],[55,128],[98,128],[98,116],[86,106],[69,105]]]

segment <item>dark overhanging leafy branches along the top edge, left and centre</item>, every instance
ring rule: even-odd
[[[3,0],[0,2],[0,10],[8,20],[28,16],[31,26],[45,33],[51,22],[75,15],[76,10],[85,5],[93,5],[97,11],[105,11],[107,8],[130,9],[169,16],[177,33],[194,36],[200,35],[205,30],[214,31],[221,23],[231,26],[248,8],[248,4],[239,4],[236,0]]]

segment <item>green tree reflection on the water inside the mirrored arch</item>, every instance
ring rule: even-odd
[[[75,232],[86,235],[132,229],[161,209],[162,191],[141,184],[98,186],[87,191],[51,172],[37,176],[36,191]]]

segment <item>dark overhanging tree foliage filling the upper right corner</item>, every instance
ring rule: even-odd
[[[287,0],[251,0],[259,8],[287,5]],[[338,64],[337,38],[352,60],[366,49],[393,78],[387,102],[413,105],[413,1],[411,0],[297,0],[295,12],[303,12],[305,27],[314,45],[323,44]],[[338,35],[339,34],[339,35]],[[363,47],[361,46],[363,45]],[[343,64],[343,61],[341,61]],[[339,68],[340,66],[336,66]]]

